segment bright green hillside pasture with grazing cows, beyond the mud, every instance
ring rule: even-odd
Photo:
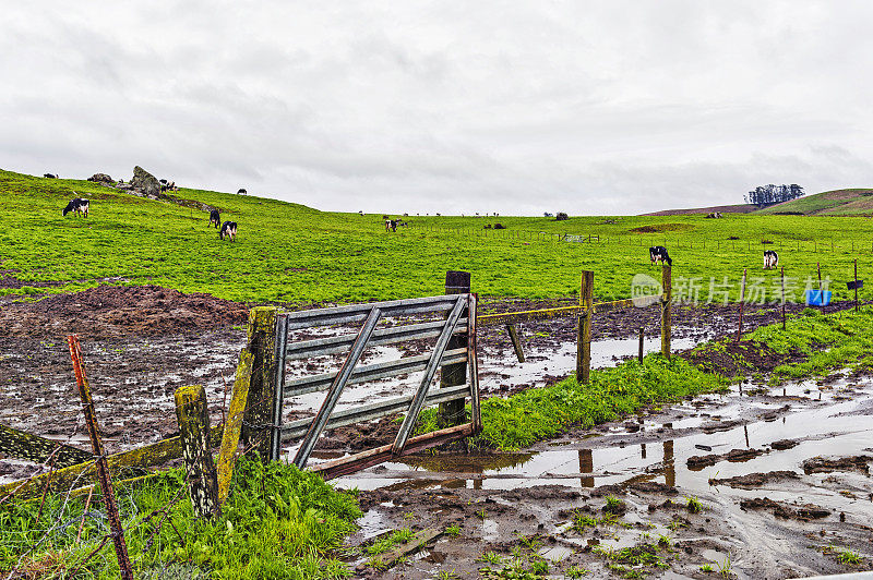
[[[835,281],[835,299],[849,298],[845,281],[853,258],[859,277],[873,268],[873,231],[865,217],[410,216],[409,228],[386,233],[381,214],[323,213],[268,198],[180,190],[178,196],[217,206],[223,219],[239,223],[237,242],[230,243],[206,227],[203,212],[86,181],[0,171],[0,195],[5,225],[0,275],[26,283],[0,293],[22,297],[98,283],[156,283],[240,301],[362,301],[442,293],[445,270],[462,269],[473,274],[474,290],[481,294],[545,299],[576,294],[579,273],[591,269],[596,297],[611,300],[630,295],[635,274],[659,276],[648,262],[654,244],[667,245],[673,257],[674,293],[682,295],[693,279],[701,300],[709,298],[710,282],[720,286],[725,277],[737,300],[743,268],[755,288],[772,290],[777,275],[762,269],[764,249],[779,252],[789,291],[798,295],[816,276],[816,262],[823,277]],[[92,200],[87,219],[61,217],[74,195]],[[497,222],[507,229],[483,229]],[[555,241],[567,233],[599,241]],[[45,282],[64,283],[35,288]]]

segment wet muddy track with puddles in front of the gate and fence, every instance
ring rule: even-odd
[[[367,517],[378,515],[382,527],[462,527],[464,540],[444,539],[431,549],[443,564],[415,560],[396,569],[405,578],[478,570],[488,552],[502,554],[504,564],[518,561],[519,551],[528,563],[549,559],[553,571],[581,566],[608,577],[623,566],[644,572],[645,566],[621,558],[647,545],[670,573],[681,575],[673,578],[706,578],[706,570],[792,578],[869,569],[873,382],[746,385],[740,391],[738,385],[725,396],[639,416],[634,427],[615,422],[526,452],[415,457],[337,484],[369,490]],[[707,456],[715,458],[710,466],[690,462]],[[854,459],[817,461],[825,471],[805,473],[818,456]],[[607,496],[624,504],[613,523],[602,522]],[[699,513],[689,511],[689,498],[699,500]],[[579,531],[576,516],[598,523]],[[535,549],[530,536],[539,539]],[[840,564],[835,554],[842,549],[866,564]]]

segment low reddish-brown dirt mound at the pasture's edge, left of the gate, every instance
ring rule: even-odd
[[[184,294],[159,286],[98,286],[37,302],[0,304],[0,327],[9,337],[105,339],[123,336],[189,335],[243,324],[249,306],[211,294]]]

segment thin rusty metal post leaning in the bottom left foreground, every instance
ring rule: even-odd
[[[109,520],[109,529],[112,530],[111,535],[112,543],[116,547],[116,556],[118,557],[118,568],[121,578],[124,580],[133,580],[133,569],[130,565],[130,557],[128,556],[128,544],[124,542],[124,531],[121,529],[121,521],[118,517],[112,479],[109,475],[109,466],[106,463],[106,454],[103,448],[103,440],[100,440],[100,431],[97,428],[97,415],[94,412],[94,401],[91,398],[91,387],[88,386],[88,379],[85,375],[85,365],[82,362],[82,348],[79,345],[79,335],[68,336],[67,342],[70,345],[70,357],[73,360],[73,370],[75,371],[75,384],[76,387],[79,387],[79,398],[82,400],[82,410],[85,413],[85,423],[88,426],[88,435],[91,436],[91,448],[94,451],[97,463],[97,475],[100,482],[100,490],[103,491],[104,505],[106,506],[106,517]]]

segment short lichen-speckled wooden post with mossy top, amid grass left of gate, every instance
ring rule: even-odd
[[[210,449],[210,413],[206,391],[201,385],[176,389],[176,419],[182,439],[182,457],[188,467],[188,495],[194,517],[212,518],[222,513],[218,503],[218,474]]]

